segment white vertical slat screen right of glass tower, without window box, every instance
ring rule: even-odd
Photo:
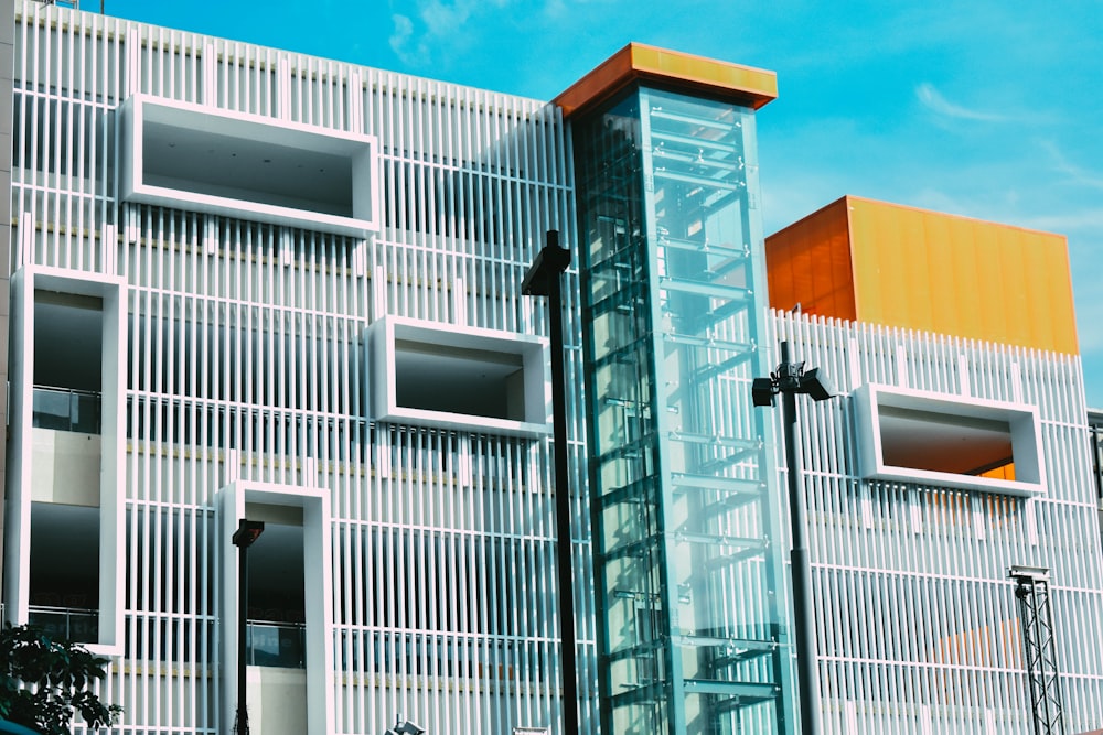
[[[1079,357],[783,313],[772,324],[839,393],[797,401],[825,732],[1035,732],[1013,565],[1049,570],[1065,732],[1100,727],[1103,560]],[[1037,411],[1040,493],[864,479],[854,394],[869,385]]]

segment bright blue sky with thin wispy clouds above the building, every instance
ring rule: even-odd
[[[630,41],[773,71],[765,231],[844,194],[1065,235],[1103,407],[1103,3],[105,0],[148,23],[552,99]],[[96,9],[86,0],[86,10]]]

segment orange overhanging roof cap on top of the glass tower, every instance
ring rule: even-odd
[[[630,43],[554,101],[569,118],[638,80],[700,91],[753,109],[778,97],[778,75],[773,72]]]

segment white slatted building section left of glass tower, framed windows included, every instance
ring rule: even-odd
[[[114,657],[119,732],[228,733],[248,517],[254,732],[558,723],[546,311],[520,283],[543,233],[574,239],[559,111],[14,18],[7,618]]]

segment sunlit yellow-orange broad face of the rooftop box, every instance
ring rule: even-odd
[[[859,321],[1079,352],[1063,237],[846,201]]]

